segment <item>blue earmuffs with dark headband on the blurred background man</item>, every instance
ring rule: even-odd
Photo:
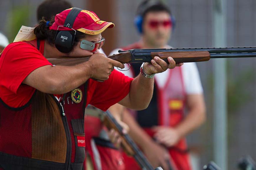
[[[147,9],[151,8],[152,6],[159,5],[159,4],[162,4],[162,2],[160,2],[159,0],[149,0],[139,6],[139,9],[137,11],[137,16],[134,19],[134,25],[136,26],[136,28],[140,34],[142,34],[142,32],[143,32],[143,30],[142,30],[143,14],[147,11]],[[173,30],[175,28],[175,18],[174,18],[174,16],[172,16],[171,13],[170,13],[170,15],[171,15],[171,20],[172,20],[172,30]]]

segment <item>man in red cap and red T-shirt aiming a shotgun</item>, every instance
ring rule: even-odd
[[[34,29],[36,39],[6,46],[0,54],[0,169],[82,169],[88,104],[102,110],[117,102],[147,107],[154,80],[126,77],[114,70],[122,63],[98,53],[101,33],[112,27],[93,11],[72,8],[42,20]],[[47,61],[63,56],[91,57],[70,67]],[[169,62],[155,57],[144,69],[163,72],[175,67],[171,57]]]

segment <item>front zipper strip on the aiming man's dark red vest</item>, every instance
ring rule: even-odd
[[[63,95],[61,102],[57,101],[54,96],[53,96],[53,98],[55,99],[56,103],[59,106],[59,110],[62,115],[61,118],[62,118],[63,123],[65,124],[64,129],[65,129],[65,132],[67,135],[67,154],[66,154],[67,167],[66,167],[66,169],[69,170],[70,169],[70,161],[71,161],[71,153],[70,152],[71,152],[72,148],[71,148],[71,135],[70,135],[70,131],[69,131],[69,125],[68,125],[67,117],[65,116],[66,114],[64,111],[64,107],[63,107],[63,101],[65,99],[65,96],[66,96],[66,94]]]

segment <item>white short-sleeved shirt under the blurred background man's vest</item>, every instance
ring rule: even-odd
[[[109,55],[113,54],[118,54],[118,50],[122,50],[120,48],[113,50],[110,52]],[[128,64],[125,64],[125,68],[129,68]],[[117,68],[115,68],[117,69]],[[117,69],[120,71],[119,69]],[[184,82],[184,89],[187,94],[202,94],[203,93],[203,88],[199,76],[199,72],[196,66],[195,62],[190,62],[190,63],[184,63],[183,66],[181,66],[182,70],[182,79]],[[157,81],[157,84],[162,87],[166,84],[168,74],[169,72],[172,71],[171,69],[167,69],[165,72],[162,73],[157,73],[155,75],[155,79]],[[124,73],[126,76],[133,77],[133,73],[131,70],[128,71],[120,71]]]

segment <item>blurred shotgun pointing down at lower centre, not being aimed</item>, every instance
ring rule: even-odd
[[[153,166],[149,163],[147,158],[133,142],[133,140],[129,137],[129,135],[122,132],[123,127],[117,122],[112,114],[109,113],[109,111],[104,112],[98,108],[89,105],[85,110],[85,115],[98,117],[109,130],[115,129],[122,138],[121,146],[124,149],[124,152],[126,152],[128,155],[133,156],[136,162],[142,168],[142,170],[162,170],[161,167],[157,167],[156,169],[153,168]]]

